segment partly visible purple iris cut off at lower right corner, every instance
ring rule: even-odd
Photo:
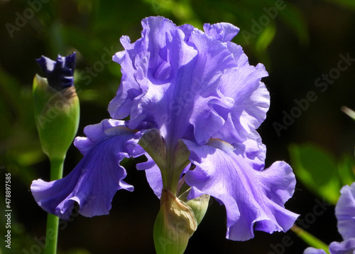
[[[333,242],[329,245],[330,254],[355,253],[355,182],[340,190],[340,197],[335,206],[335,216],[338,220],[338,231],[344,241]],[[325,254],[324,250],[307,248],[303,254]]]

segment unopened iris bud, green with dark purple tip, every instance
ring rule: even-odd
[[[80,104],[73,85],[75,53],[56,61],[42,56],[38,63],[47,78],[33,80],[35,124],[43,152],[50,159],[64,159],[77,133]]]

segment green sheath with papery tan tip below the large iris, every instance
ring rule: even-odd
[[[153,231],[156,253],[182,254],[197,229],[194,212],[168,189],[163,189],[160,203]]]

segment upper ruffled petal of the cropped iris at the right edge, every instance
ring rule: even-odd
[[[344,186],[335,206],[338,220],[338,231],[344,240],[355,238],[355,182]]]

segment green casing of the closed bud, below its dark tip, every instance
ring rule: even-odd
[[[80,104],[75,87],[57,91],[36,74],[33,106],[43,152],[51,161],[64,159],[79,126]]]

